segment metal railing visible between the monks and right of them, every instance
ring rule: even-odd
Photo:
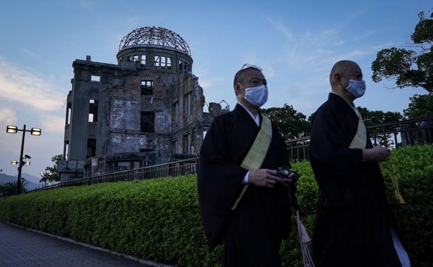
[[[396,148],[433,143],[433,117],[374,124],[366,129],[373,145]],[[309,137],[290,139],[286,144],[292,161],[309,159]]]

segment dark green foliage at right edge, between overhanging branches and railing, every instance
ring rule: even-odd
[[[409,107],[403,110],[408,119],[433,117],[433,93],[416,94],[409,99]]]

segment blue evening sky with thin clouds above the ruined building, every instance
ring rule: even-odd
[[[0,8],[0,169],[16,175],[22,135],[7,125],[42,128],[26,135],[24,154],[39,175],[62,154],[65,101],[72,62],[117,64],[119,42],[135,28],[161,26],[189,44],[192,72],[206,102],[235,107],[232,79],[244,63],[257,64],[268,80],[264,107],[285,103],[309,116],[328,98],[329,72],[354,60],[366,80],[355,101],[369,110],[402,112],[424,89],[373,83],[371,62],[391,46],[410,48],[418,12],[431,1],[3,1]]]

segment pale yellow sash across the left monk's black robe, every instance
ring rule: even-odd
[[[264,157],[266,157],[266,153],[268,153],[269,145],[272,140],[272,125],[271,120],[262,115],[262,126],[260,127],[260,131],[255,137],[253,146],[251,146],[250,150],[246,154],[244,161],[241,164],[241,167],[247,169],[248,171],[257,171],[262,166],[264,161]],[[232,210],[235,210],[237,204],[241,200],[242,196],[248,189],[248,184],[244,185],[241,193],[235,200],[235,203],[232,205]]]

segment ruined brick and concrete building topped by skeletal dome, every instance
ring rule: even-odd
[[[197,155],[212,119],[192,74],[189,46],[166,28],[144,27],[120,42],[118,64],[74,60],[67,96],[62,181]]]

